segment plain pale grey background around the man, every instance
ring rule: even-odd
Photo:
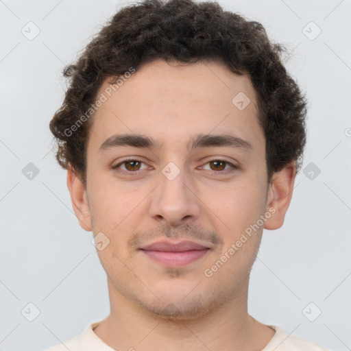
[[[73,213],[49,121],[64,96],[63,66],[127,3],[0,1],[0,350],[42,350],[108,315],[106,275],[92,233]],[[351,1],[220,3],[288,46],[287,68],[310,105],[306,175],[296,179],[285,225],[264,232],[249,312],[351,350]],[[36,27],[40,34],[29,40]],[[29,162],[39,171],[32,180]]]

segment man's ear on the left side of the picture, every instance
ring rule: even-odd
[[[80,226],[87,232],[91,232],[91,217],[86,189],[80,178],[77,176],[71,164],[67,169],[67,186],[71,194],[71,201],[75,215]]]

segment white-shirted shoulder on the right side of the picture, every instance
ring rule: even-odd
[[[262,351],[330,351],[314,341],[289,335],[279,326],[271,326],[276,334]]]

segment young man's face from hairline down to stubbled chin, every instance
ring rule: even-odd
[[[158,60],[104,94],[75,212],[97,235],[110,298],[169,319],[201,317],[244,298],[278,197],[267,191],[265,136],[250,79],[220,63]],[[158,241],[205,248],[142,250]]]

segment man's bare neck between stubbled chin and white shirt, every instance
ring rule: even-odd
[[[193,319],[165,319],[121,295],[111,282],[110,315],[94,328],[115,350],[263,350],[274,330],[247,313],[248,279],[232,300]]]

